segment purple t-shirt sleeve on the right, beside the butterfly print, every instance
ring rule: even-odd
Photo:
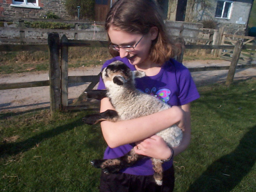
[[[196,84],[194,83],[188,68],[184,67],[178,78],[179,79],[177,81],[179,82],[180,87],[180,95],[178,96],[180,102],[179,105],[188,104],[200,98]]]

